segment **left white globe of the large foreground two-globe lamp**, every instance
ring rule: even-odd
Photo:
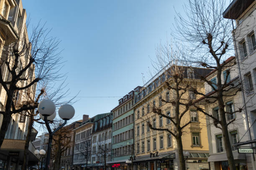
[[[38,105],[38,111],[43,116],[49,116],[54,114],[56,106],[51,100],[42,100]]]

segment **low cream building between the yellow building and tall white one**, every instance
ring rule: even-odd
[[[239,82],[239,73],[238,68],[235,65],[236,57],[230,57],[225,61],[225,70],[222,72],[222,80],[223,84],[226,79],[226,71],[229,70],[230,74],[227,77],[227,83],[232,82],[234,85],[238,85]],[[216,80],[217,72],[213,71],[209,75],[206,76],[207,80],[214,81]],[[228,89],[230,86],[226,87]],[[224,103],[225,103],[225,111],[226,112],[236,112],[243,106],[243,100],[242,100],[242,92],[237,92],[239,90],[239,86],[236,88],[231,88],[228,90],[227,94],[228,97],[223,97]],[[215,92],[213,91],[212,87],[208,85],[205,82],[205,94],[209,95],[215,95]],[[211,99],[210,101],[213,101],[214,99]],[[205,111],[209,113],[210,115],[213,115],[217,119],[220,120],[219,115],[219,107],[218,102],[207,102],[205,98],[203,98],[200,102],[204,104]],[[235,120],[234,122],[231,122],[231,124],[228,126],[229,131],[229,137],[230,137],[230,143],[231,145],[238,143],[238,141],[246,141],[248,140],[248,135],[246,134],[246,127],[240,128],[241,125],[244,125],[245,122],[245,112],[236,112],[233,114],[226,114],[226,120],[228,122],[231,122]],[[208,162],[210,162],[210,168],[211,170],[223,170],[228,169],[228,159],[225,152],[224,147],[224,141],[223,141],[223,134],[222,130],[219,128],[216,128],[214,121],[207,117],[207,135],[208,135],[208,141],[209,141],[209,151],[210,151],[210,157],[208,158]],[[236,162],[236,167],[238,169],[246,169],[246,154],[244,153],[238,153],[237,147],[232,147],[233,150],[233,157]],[[250,160],[250,159],[249,159]],[[249,167],[248,167],[249,168]]]

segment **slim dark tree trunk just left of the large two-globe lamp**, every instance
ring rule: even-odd
[[[29,147],[29,142],[31,139],[31,132],[32,132],[32,128],[33,128],[33,115],[29,116],[29,123],[28,123],[28,135],[26,137],[26,142],[25,142],[25,148],[24,148],[24,160],[23,160],[23,168],[22,170],[26,170],[28,167],[28,147]]]

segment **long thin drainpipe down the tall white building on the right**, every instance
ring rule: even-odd
[[[243,94],[243,104],[245,107],[245,114],[246,114],[246,126],[248,128],[248,133],[249,133],[249,139],[251,139],[251,130],[250,130],[250,126],[249,126],[249,119],[248,119],[248,112],[247,112],[247,108],[246,108],[246,100],[245,100],[245,95],[244,95],[244,91],[243,91],[243,80],[242,80],[242,75],[241,75],[241,69],[240,69],[240,62],[239,62],[239,57],[238,57],[238,51],[237,51],[237,46],[236,46],[236,36],[234,33],[234,23],[233,23],[233,19],[232,20],[232,27],[233,27],[233,38],[234,38],[234,47],[235,47],[235,51],[236,51],[236,59],[237,59],[237,63],[238,63],[238,71],[239,71],[239,77],[240,77],[240,81],[241,81],[241,87],[242,87],[242,94]],[[251,143],[251,147],[253,147],[252,143]],[[256,170],[255,167],[255,155],[253,153],[253,166],[254,166],[254,170]]]

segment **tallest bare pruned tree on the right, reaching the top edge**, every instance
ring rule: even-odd
[[[232,148],[230,145],[228,125],[231,122],[226,120],[226,116],[233,114],[225,110],[225,98],[235,96],[241,91],[241,82],[234,83],[227,81],[231,67],[236,67],[236,62],[226,65],[225,60],[233,54],[233,39],[231,32],[242,33],[240,30],[232,29],[232,21],[223,18],[225,10],[225,0],[188,0],[184,5],[182,16],[176,12],[174,24],[174,37],[182,42],[181,52],[184,52],[186,61],[200,63],[202,67],[211,68],[216,71],[217,80],[211,81],[202,76],[201,80],[209,85],[213,92],[212,95],[199,92],[194,93],[206,98],[209,103],[216,103],[219,107],[220,119],[197,107],[197,110],[207,115],[213,120],[215,126],[220,128],[223,134],[224,146],[228,158],[230,170],[235,170]],[[226,70],[225,78],[222,77],[223,70]],[[232,93],[228,94],[228,92]],[[236,112],[241,112],[239,108]],[[233,119],[234,122],[236,119]]]

